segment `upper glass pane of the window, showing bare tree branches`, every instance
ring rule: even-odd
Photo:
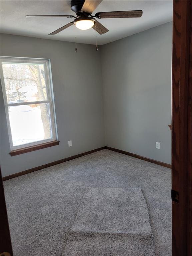
[[[47,100],[43,64],[2,62],[8,103]]]

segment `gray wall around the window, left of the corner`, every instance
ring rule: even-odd
[[[1,34],[0,55],[49,58],[57,120],[58,146],[10,156],[2,91],[1,169],[7,176],[105,145],[100,52],[94,45]],[[72,140],[72,147],[68,147]]]

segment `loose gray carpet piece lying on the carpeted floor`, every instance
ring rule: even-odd
[[[86,189],[63,253],[77,255],[155,255],[141,189]]]

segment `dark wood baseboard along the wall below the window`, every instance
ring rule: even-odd
[[[90,150],[90,151],[87,151],[87,152],[84,152],[84,153],[81,153],[81,154],[78,154],[78,155],[75,155],[75,156],[70,156],[70,157],[67,157],[67,158],[64,158],[64,159],[61,159],[61,160],[57,160],[55,162],[51,162],[51,163],[48,163],[48,164],[37,166],[37,167],[31,168],[31,169],[28,169],[26,171],[14,173],[14,174],[11,174],[9,176],[5,176],[2,179],[3,179],[3,181],[5,181],[5,180],[12,179],[12,178],[16,178],[18,176],[21,176],[21,175],[24,175],[24,174],[27,174],[27,173],[30,173],[30,172],[35,172],[35,171],[38,171],[38,170],[41,170],[41,169],[44,169],[44,168],[47,168],[47,167],[50,167],[50,166],[53,166],[53,165],[56,165],[56,164],[61,164],[61,163],[76,159],[78,157],[85,156],[85,155],[97,152],[97,151],[102,150],[102,149],[105,149],[105,147],[93,149],[93,150]]]

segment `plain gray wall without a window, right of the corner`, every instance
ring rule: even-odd
[[[102,46],[107,146],[171,163],[171,47],[171,22]]]

